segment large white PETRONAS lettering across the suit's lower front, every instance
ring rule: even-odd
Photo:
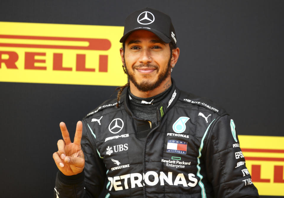
[[[107,179],[110,181],[109,191],[112,190],[112,187],[114,187],[114,190],[117,191],[129,188],[143,187],[145,186],[145,184],[149,186],[155,186],[155,185],[164,186],[165,182],[171,186],[178,186],[178,185],[182,185],[183,187],[196,186],[198,180],[195,178],[194,174],[189,173],[186,177],[188,177],[188,179],[185,178],[185,175],[183,173],[180,173],[177,176],[173,177],[172,172],[167,172],[167,173],[160,172],[158,174],[154,171],[148,171],[145,174],[143,173],[143,175],[140,173],[131,173],[121,176],[108,177]],[[130,179],[130,182],[128,179]],[[128,186],[129,183],[130,186]]]

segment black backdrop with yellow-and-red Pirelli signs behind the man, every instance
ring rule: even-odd
[[[172,17],[177,86],[227,109],[261,197],[284,197],[284,2],[259,0],[0,1],[0,197],[53,196],[59,122],[73,137],[127,82],[124,19],[147,6]]]

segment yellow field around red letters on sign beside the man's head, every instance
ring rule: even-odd
[[[48,37],[75,37],[75,38],[101,38],[111,42],[109,50],[74,50],[74,49],[46,49],[46,48],[19,48],[0,47],[0,51],[14,51],[19,55],[16,62],[18,69],[7,69],[4,63],[0,68],[0,81],[22,83],[50,83],[50,84],[79,84],[121,86],[127,82],[127,76],[122,70],[119,49],[120,36],[123,27],[97,26],[97,25],[70,25],[70,24],[43,24],[0,22],[1,35],[48,36]],[[115,32],[115,34],[114,34]],[[62,44],[60,41],[3,39],[0,42],[20,42],[33,44]],[[51,43],[52,42],[52,43]],[[74,45],[72,41],[64,41],[64,45]],[[31,44],[31,43],[27,43]],[[86,43],[82,43],[85,45]],[[35,56],[35,59],[45,59],[46,63],[35,63],[35,66],[46,66],[46,70],[24,69],[25,52],[46,53],[46,56]],[[72,68],[72,71],[54,71],[53,53],[63,53],[63,67]],[[76,54],[86,55],[86,68],[95,68],[95,72],[76,71]],[[108,71],[99,72],[99,55],[108,55]],[[7,59],[2,55],[2,59]]]

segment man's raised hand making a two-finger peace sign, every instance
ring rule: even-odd
[[[58,140],[58,151],[53,153],[57,168],[67,176],[76,175],[83,171],[85,166],[84,153],[81,149],[82,122],[78,121],[74,142],[69,137],[69,132],[64,122],[59,124],[63,140]]]

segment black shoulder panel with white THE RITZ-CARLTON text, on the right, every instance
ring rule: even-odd
[[[196,107],[203,107],[204,109],[210,110],[220,116],[228,114],[223,107],[213,102],[212,100],[206,97],[196,96],[194,94],[191,94],[185,91],[180,91],[178,100],[179,100],[179,103],[182,103],[185,106],[193,105]]]

